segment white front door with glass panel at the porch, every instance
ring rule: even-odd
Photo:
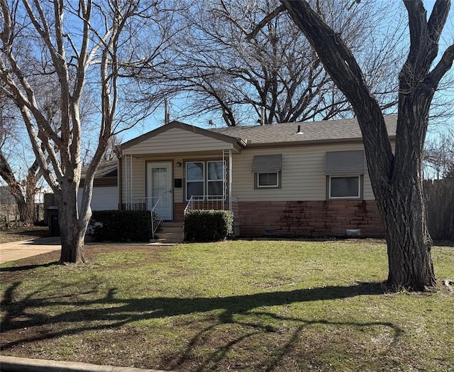
[[[172,162],[147,163],[148,209],[156,207],[159,217],[166,221],[173,218]]]

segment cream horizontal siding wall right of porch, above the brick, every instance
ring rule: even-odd
[[[328,151],[362,150],[361,144],[254,148],[233,155],[232,195],[241,201],[325,200],[325,159]],[[282,154],[282,188],[254,189],[255,155]],[[369,175],[364,175],[364,199],[374,199]]]

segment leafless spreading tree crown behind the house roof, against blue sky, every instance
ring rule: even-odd
[[[365,63],[368,87],[380,104],[393,106],[397,78],[389,72],[404,59],[399,54],[402,30],[385,29],[380,18],[392,10],[396,16],[395,7],[347,4],[350,0],[316,1],[319,15],[341,30]],[[201,0],[184,9],[180,22],[185,32],[175,40],[174,57],[162,71],[167,90],[190,103],[183,116],[211,114],[215,121],[236,126],[256,124],[262,107],[265,123],[351,115],[350,103],[319,56],[284,14],[273,14],[248,37],[277,5],[278,0]],[[379,29],[391,34],[387,43],[377,37]]]

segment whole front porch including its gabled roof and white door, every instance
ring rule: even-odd
[[[121,209],[148,210],[153,231],[191,209],[231,210],[233,154],[240,138],[172,121],[121,145]]]

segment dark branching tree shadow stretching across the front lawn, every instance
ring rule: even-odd
[[[234,337],[223,346],[217,347],[199,365],[200,368],[197,368],[197,370],[202,370],[208,365],[215,365],[226,356],[233,346],[249,337],[253,337],[255,334],[260,332],[275,332],[272,326],[262,324],[263,317],[269,317],[269,319],[276,321],[297,322],[299,325],[290,335],[284,346],[275,350],[273,355],[268,357],[266,361],[267,365],[260,367],[260,370],[271,371],[284,356],[289,354],[294,345],[296,345],[301,329],[311,324],[350,325],[353,327],[382,326],[389,329],[394,339],[397,339],[402,333],[402,329],[399,329],[399,327],[390,322],[330,322],[323,319],[308,320],[281,317],[272,312],[260,311],[261,309],[253,311],[262,307],[291,305],[297,302],[336,300],[360,295],[380,295],[384,293],[382,283],[359,283],[358,285],[328,286],[282,292],[262,292],[229,297],[152,297],[143,299],[118,299],[115,297],[116,288],[111,288],[104,297],[99,299],[77,301],[72,301],[72,299],[80,295],[96,292],[96,290],[74,293],[74,291],[78,290],[78,286],[72,285],[67,288],[69,293],[62,297],[40,298],[40,292],[43,292],[43,289],[27,295],[23,300],[19,300],[15,297],[15,292],[20,284],[20,282],[13,283],[4,293],[4,300],[0,304],[4,312],[4,318],[0,324],[2,332],[14,332],[45,325],[52,325],[52,329],[55,329],[55,331],[38,332],[30,337],[23,335],[16,339],[9,337],[11,341],[4,342],[1,350],[12,349],[14,346],[28,342],[54,339],[63,335],[67,336],[80,334],[85,331],[118,328],[125,324],[144,319],[157,319],[221,310],[222,312],[220,314],[216,313],[209,327],[201,329],[189,341],[184,351],[176,350],[178,354],[170,356],[167,359],[167,368],[177,368],[187,359],[191,359],[192,351],[196,349],[197,345],[203,342],[206,334],[221,324],[238,324],[241,327],[250,328],[250,332],[240,337]],[[77,310],[70,310],[55,315],[45,314],[43,312],[45,307],[55,306],[68,306],[72,309],[76,306]],[[237,315],[240,315],[238,319],[236,319]],[[243,317],[243,315],[247,315],[247,317]],[[211,317],[213,317],[213,314],[211,314]],[[244,320],[246,318],[248,319],[247,321]],[[62,326],[59,328],[57,324],[62,324]],[[67,324],[74,324],[74,327],[68,327]],[[63,327],[64,329],[62,329]],[[19,332],[14,332],[14,334],[18,335]]]

